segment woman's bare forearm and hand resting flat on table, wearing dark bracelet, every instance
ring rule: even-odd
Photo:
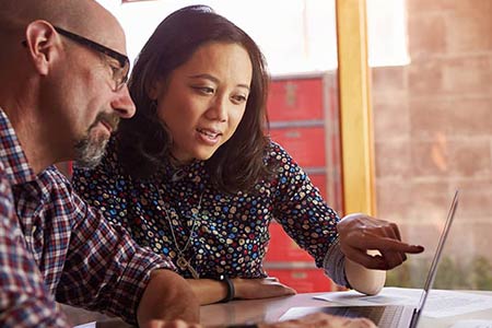
[[[213,279],[187,279],[201,305],[218,303],[227,295],[227,284]],[[293,295],[295,291],[277,279],[232,279],[234,298],[253,300]]]

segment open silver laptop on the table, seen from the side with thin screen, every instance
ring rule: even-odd
[[[374,306],[312,306],[312,307],[292,307],[290,308],[280,320],[290,320],[300,318],[307,314],[323,312],[330,315],[338,315],[343,317],[365,317],[371,319],[377,327],[405,327],[414,328],[419,323],[419,318],[422,314],[422,309],[425,305],[425,301],[429,295],[429,291],[434,284],[434,279],[437,273],[437,265],[441,260],[441,254],[443,253],[444,244],[446,243],[447,235],[455,218],[456,208],[458,207],[458,190],[455,191],[449,212],[447,214],[446,224],[441,233],[437,249],[432,259],[431,268],[425,280],[420,302],[417,307],[406,305],[374,305]]]

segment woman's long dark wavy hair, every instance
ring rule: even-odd
[[[243,119],[232,138],[206,162],[207,171],[213,184],[225,192],[253,191],[257,181],[271,174],[263,163],[269,142],[265,133],[269,83],[265,58],[243,30],[210,7],[190,5],[161,22],[132,70],[129,90],[137,113],[121,121],[118,133],[118,156],[131,176],[150,177],[162,165],[169,165],[172,136],[157,117],[149,90],[157,81],[168,81],[176,68],[211,42],[243,46],[251,60],[253,78]]]

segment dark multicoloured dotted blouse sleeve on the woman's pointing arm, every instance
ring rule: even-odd
[[[348,285],[344,256],[340,250],[338,214],[323,199],[318,188],[279,144],[271,143],[268,157],[277,165],[273,216],[286,234],[314,257],[318,268],[340,285]]]

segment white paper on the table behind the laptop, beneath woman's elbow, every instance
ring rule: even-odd
[[[385,288],[375,296],[361,293],[332,292],[319,296],[324,300],[343,305],[410,305],[419,304],[422,290]],[[492,308],[492,296],[458,291],[431,290],[422,315],[441,318]]]

